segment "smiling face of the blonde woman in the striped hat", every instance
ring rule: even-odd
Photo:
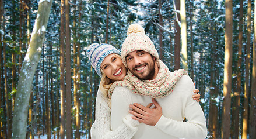
[[[113,81],[120,81],[124,79],[124,76],[127,74],[127,69],[124,64],[122,64],[122,60],[117,54],[110,54],[104,58],[100,68],[106,76]]]

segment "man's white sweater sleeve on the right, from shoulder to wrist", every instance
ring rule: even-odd
[[[206,138],[207,129],[204,112],[199,103],[194,101],[191,97],[193,95],[192,90],[194,90],[191,79],[188,76],[185,78],[186,82],[183,82],[183,86],[187,87],[187,91],[183,95],[183,99],[186,100],[184,104],[184,116],[188,121],[177,121],[162,115],[155,127],[159,128],[164,133],[179,138]]]

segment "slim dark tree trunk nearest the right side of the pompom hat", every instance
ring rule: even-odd
[[[162,0],[158,0],[158,8],[159,8],[159,58],[163,60],[163,16],[162,16]]]

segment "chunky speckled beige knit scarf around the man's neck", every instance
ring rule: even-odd
[[[108,90],[108,97],[111,98],[115,86],[124,86],[132,90],[133,93],[153,98],[163,98],[168,96],[176,86],[176,83],[182,75],[188,75],[184,69],[170,72],[167,66],[159,61],[159,72],[153,80],[140,80],[131,71],[127,71],[127,75],[122,81],[114,82]]]

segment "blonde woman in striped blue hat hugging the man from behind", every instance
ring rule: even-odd
[[[108,89],[115,81],[122,80],[127,74],[127,68],[122,63],[120,51],[108,44],[93,43],[87,49],[87,57],[93,68],[101,77],[96,97],[96,119],[91,128],[92,138],[131,138],[137,131],[138,121],[132,119],[132,114],[125,116],[124,123],[117,130],[111,131],[111,100],[107,96]],[[199,92],[198,89],[194,90]],[[193,96],[200,101],[200,94]],[[152,103],[147,107],[150,108]]]

